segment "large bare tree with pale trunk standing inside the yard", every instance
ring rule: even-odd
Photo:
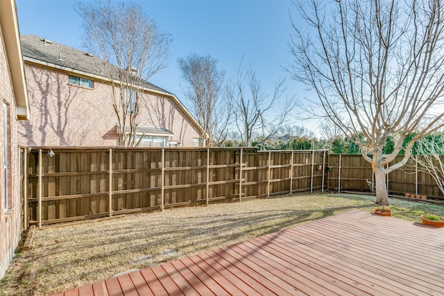
[[[296,4],[302,30],[288,71],[316,92],[325,116],[372,164],[376,202],[388,204],[386,174],[407,163],[413,144],[443,125],[444,10],[438,0]],[[416,135],[395,159],[407,134]],[[384,154],[386,141],[393,153]]]

